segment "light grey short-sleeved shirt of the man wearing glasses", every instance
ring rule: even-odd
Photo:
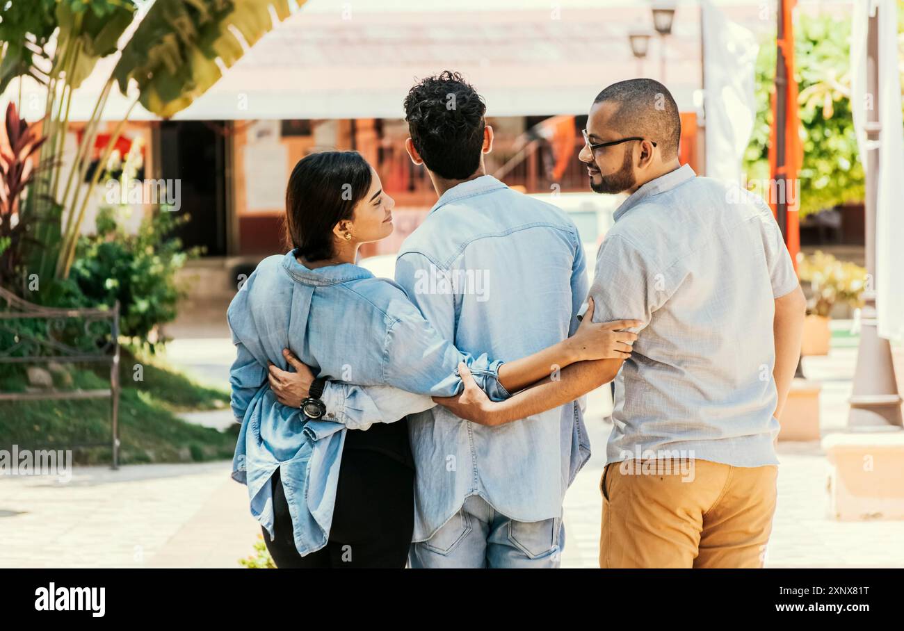
[[[644,321],[616,378],[607,462],[696,457],[777,465],[775,298],[798,286],[766,202],[689,165],[615,213],[595,322]]]

